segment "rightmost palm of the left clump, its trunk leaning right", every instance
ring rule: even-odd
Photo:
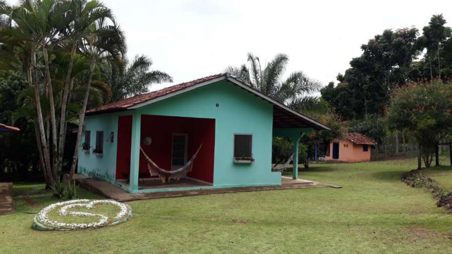
[[[121,64],[121,56],[126,52],[124,33],[116,24],[108,25],[105,19],[100,19],[96,22],[95,26],[91,26],[90,29],[91,33],[84,36],[79,42],[81,54],[88,58],[90,63],[88,80],[86,82],[86,92],[79,114],[78,133],[70,170],[71,177],[73,177],[77,165],[86,105],[88,104],[89,91],[96,63],[101,61],[112,61]],[[119,66],[122,68],[121,65]]]

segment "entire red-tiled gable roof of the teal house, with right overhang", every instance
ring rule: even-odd
[[[139,108],[220,80],[230,81],[232,84],[237,85],[264,100],[267,100],[269,103],[272,103],[274,112],[273,125],[275,128],[311,127],[316,130],[330,130],[328,126],[287,107],[286,105],[252,88],[251,86],[244,84],[242,81],[231,77],[229,73],[210,75],[207,77],[166,87],[157,91],[139,94],[124,100],[112,102],[100,107],[86,110],[86,114],[92,115]]]

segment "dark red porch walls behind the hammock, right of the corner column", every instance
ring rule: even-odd
[[[141,140],[150,137],[149,146],[141,145],[146,154],[164,169],[171,169],[172,134],[188,134],[187,160],[202,143],[193,170],[188,177],[213,183],[213,156],[215,150],[215,119],[190,118],[161,115],[142,115]],[[140,172],[148,173],[144,156],[140,154]]]

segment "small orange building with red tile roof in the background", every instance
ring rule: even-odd
[[[361,133],[345,133],[342,140],[334,140],[326,148],[326,161],[363,162],[371,160],[375,141]]]

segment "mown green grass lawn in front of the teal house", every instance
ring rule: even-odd
[[[130,221],[96,230],[35,231],[34,215],[19,212],[0,216],[0,253],[452,253],[452,215],[400,181],[415,166],[415,160],[312,164],[301,178],[344,188],[134,201]],[[434,176],[445,186],[451,177],[452,167]],[[37,195],[37,206],[21,201],[18,209],[38,211],[56,201]]]

